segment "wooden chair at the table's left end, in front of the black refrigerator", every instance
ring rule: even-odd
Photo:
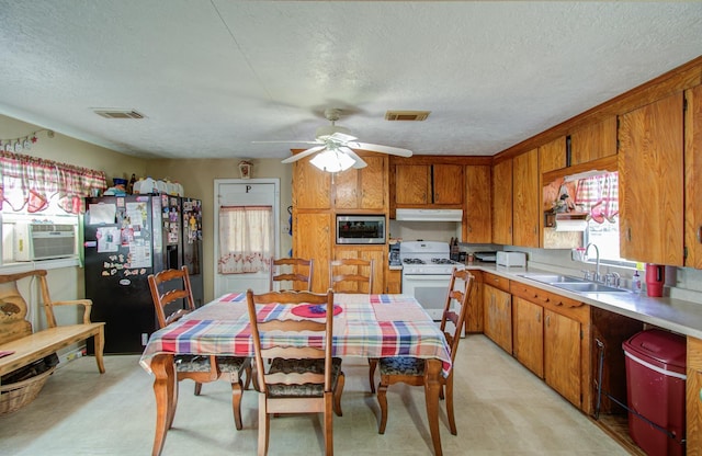
[[[188,266],[179,270],[166,270],[157,274],[149,274],[149,287],[151,299],[156,307],[159,328],[180,320],[189,312],[195,310],[195,301],[190,285]],[[179,307],[178,303],[184,303],[185,308]],[[168,316],[167,311],[170,311]],[[203,383],[227,378],[231,381],[231,407],[234,409],[234,422],[237,430],[241,425],[241,395],[244,389],[248,389],[251,379],[251,360],[237,356],[202,356],[202,355],[177,355],[174,358],[178,381],[190,378],[195,381],[195,396],[200,396]],[[242,386],[241,378],[247,374],[246,386]],[[173,415],[178,403],[178,384],[173,396]],[[171,421],[173,419],[171,415]],[[169,423],[169,429],[170,429]]]

